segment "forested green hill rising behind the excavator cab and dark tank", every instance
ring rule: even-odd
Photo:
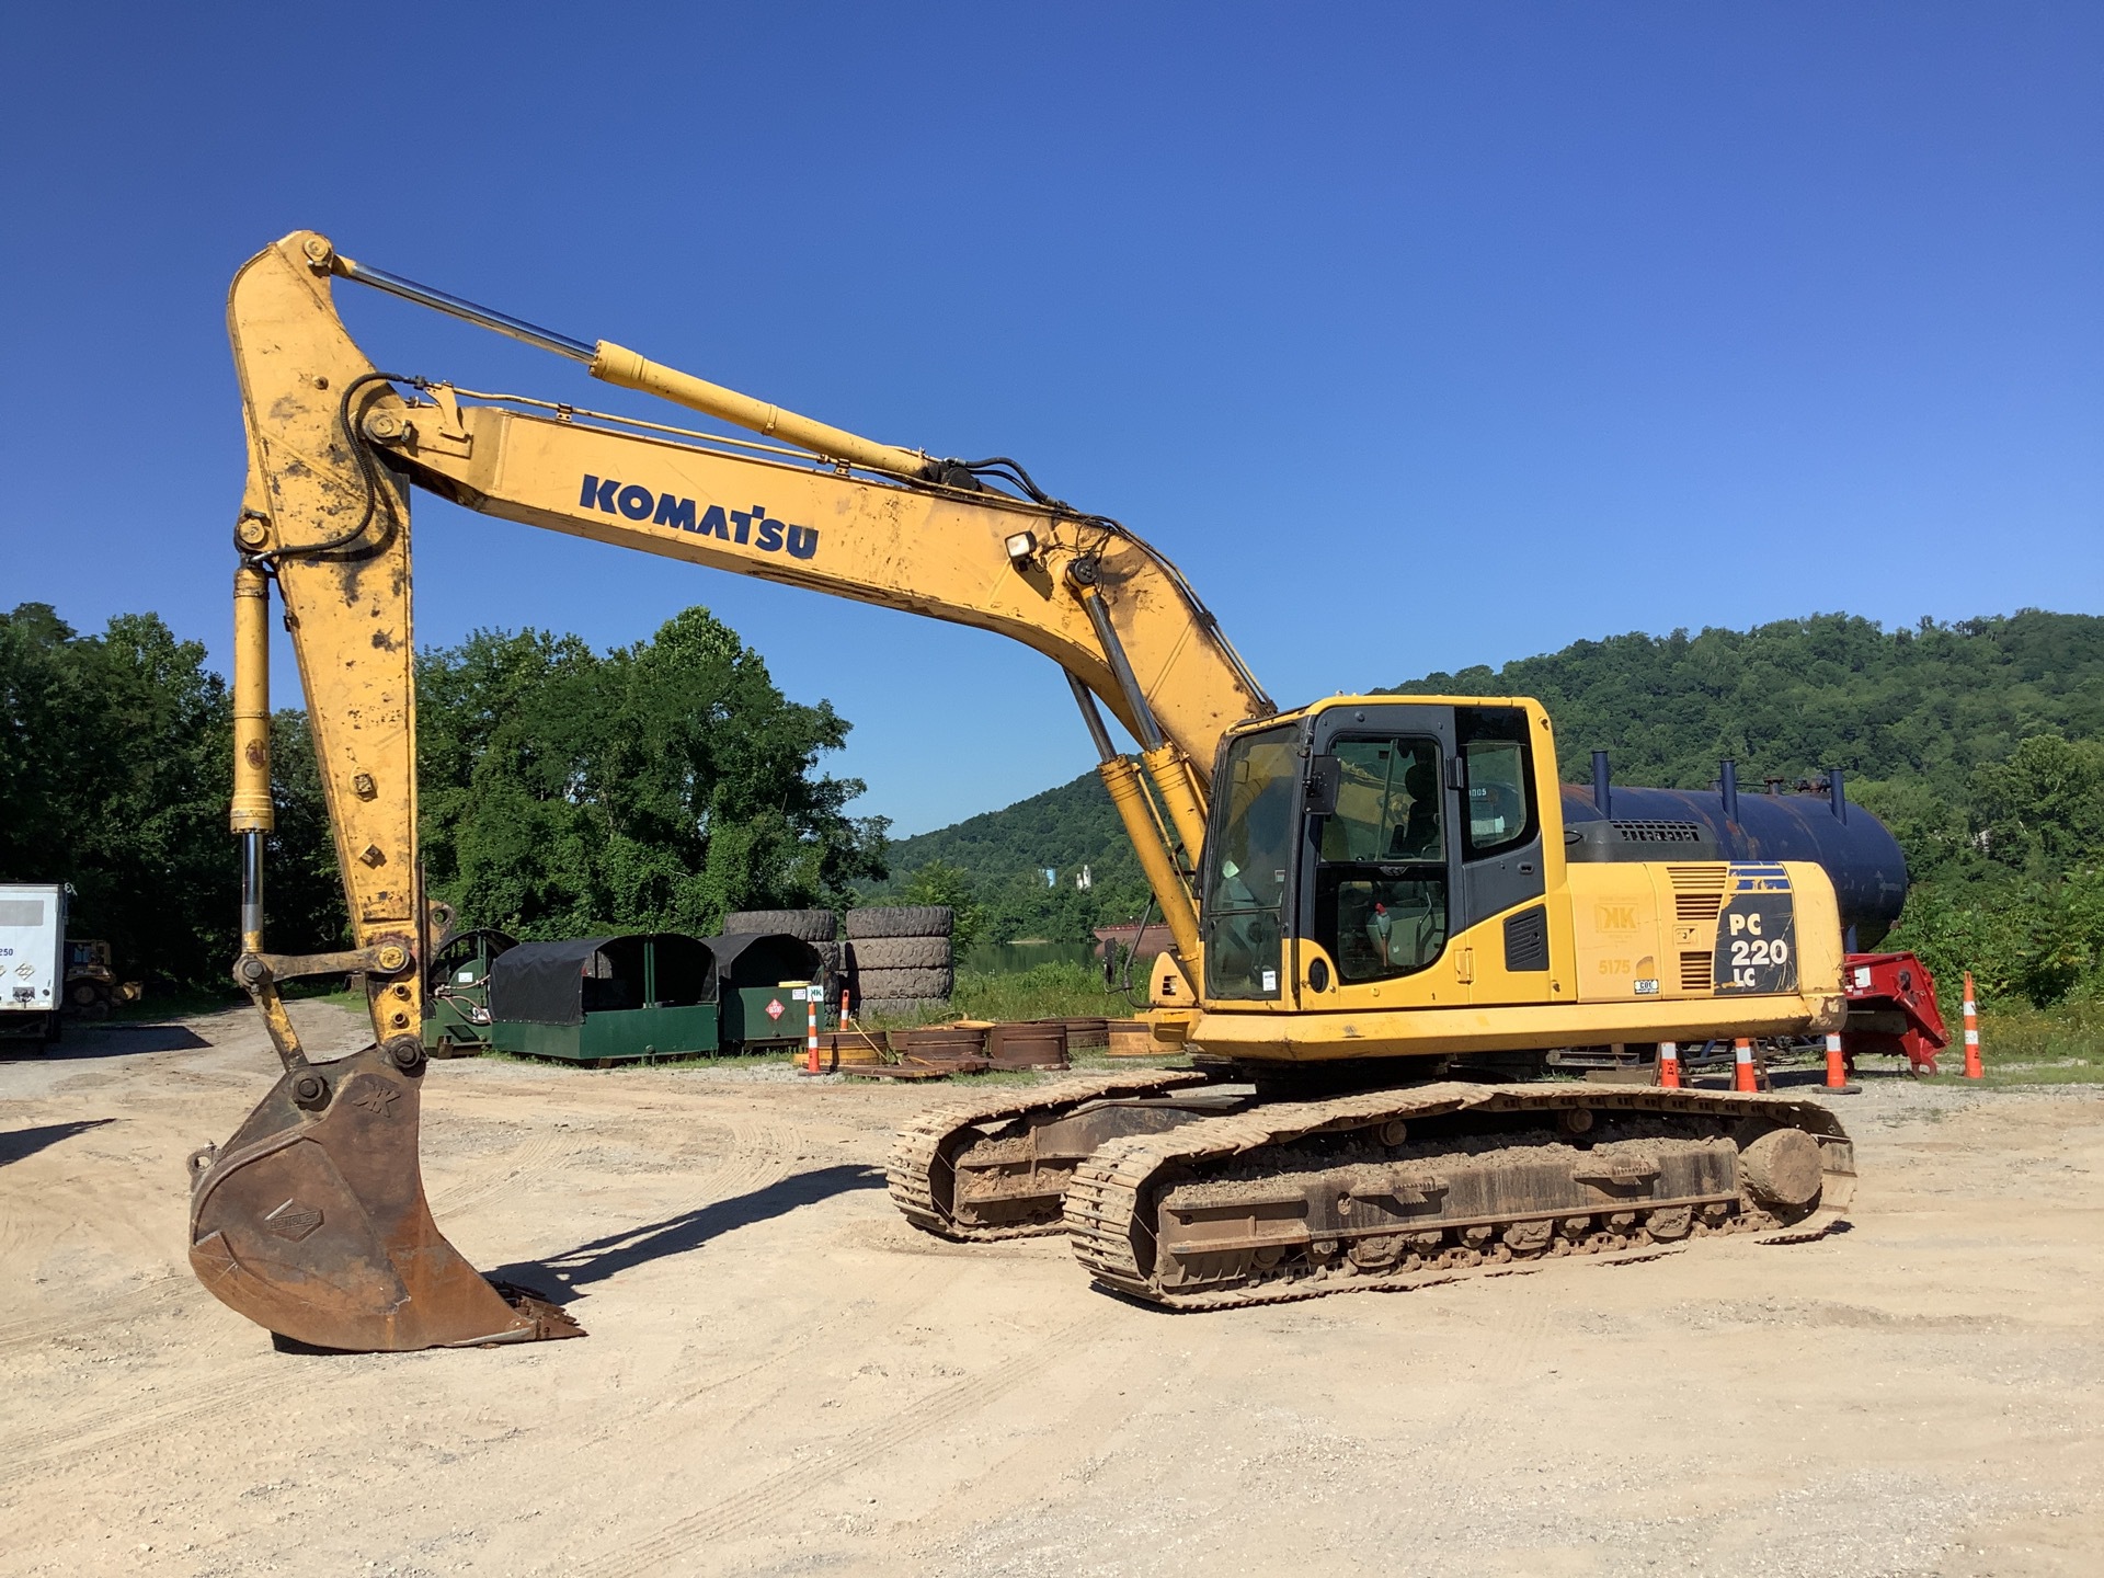
[[[1971,968],[1990,995],[2104,991],[2104,619],[2026,610],[1887,631],[1816,614],[1576,642],[1389,688],[1538,696],[1572,781],[1589,776],[1593,749],[1612,753],[1620,783],[1662,787],[1713,783],[1721,755],[1744,783],[1845,768],[1915,875],[1896,943],[1940,970]],[[1084,863],[1096,875],[1086,894],[1071,882]],[[1084,936],[1145,896],[1092,772],[898,839],[888,886],[930,867],[953,896],[983,903],[993,938]]]

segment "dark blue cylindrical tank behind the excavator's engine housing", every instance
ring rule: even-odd
[[[1610,785],[1593,753],[1593,785],[1563,785],[1572,861],[1816,861],[1835,884],[1852,953],[1873,949],[1906,903],[1906,856],[1891,831],[1847,802],[1841,772],[1799,793],[1742,793],[1729,762],[1715,789]]]

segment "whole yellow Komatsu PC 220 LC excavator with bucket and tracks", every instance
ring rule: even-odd
[[[749,436],[381,372],[337,316],[337,280]],[[1839,1029],[1852,915],[1837,877],[1862,917],[1896,909],[1896,850],[1854,858],[1889,837],[1862,812],[1847,831],[1839,781],[1818,804],[1725,783],[1704,810],[1601,772],[1589,802],[1559,781],[1551,720],[1523,696],[1279,711],[1159,551],[1010,459],[856,438],[356,263],[311,231],[240,269],[227,324],[248,436],[236,978],[284,1073],[225,1147],[191,1157],[189,1258],[282,1338],[381,1351],[579,1334],[478,1275],[423,1197],[423,966],[450,915],[417,858],[412,488],[999,631],[1065,669],[1174,938],[1149,983],[1153,1035],[1191,1067],[924,1115],[890,1164],[915,1225],[1065,1231],[1102,1288],[1206,1309],[1715,1233],[1805,1237],[1845,1206],[1852,1147],[1818,1102],[1483,1077],[1546,1048]],[[349,903],[351,947],[324,955],[276,955],[263,936],[274,585]],[[366,980],[372,1046],[313,1060],[278,987],[343,972]]]

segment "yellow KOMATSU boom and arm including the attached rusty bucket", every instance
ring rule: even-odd
[[[358,280],[587,362],[760,433],[739,440],[471,396],[381,372],[332,303]],[[572,341],[337,255],[311,231],[250,259],[227,328],[248,433],[236,528],[236,795],[242,957],[284,1077],[223,1151],[194,1157],[191,1262],[227,1304],[328,1349],[576,1334],[478,1277],[446,1243],[417,1166],[423,968],[450,917],[417,858],[410,488],[530,526],[1010,635],[1058,663],[1098,747],[1178,953],[1208,774],[1225,730],[1269,696],[1182,576],[1138,537],[1044,497],[1014,463],[938,461]],[[402,391],[408,385],[408,393]],[[1012,480],[1027,497],[980,482]],[[269,587],[301,669],[351,947],[274,955],[263,936],[269,804]],[[1096,705],[1140,741],[1119,755]],[[1142,778],[1145,766],[1145,778]],[[313,1063],[278,983],[362,972],[375,1046]]]

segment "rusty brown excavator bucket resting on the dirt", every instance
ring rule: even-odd
[[[423,1067],[366,1048],[288,1071],[225,1149],[189,1161],[191,1269],[221,1302],[316,1349],[583,1336],[555,1304],[476,1273],[431,1220]]]

